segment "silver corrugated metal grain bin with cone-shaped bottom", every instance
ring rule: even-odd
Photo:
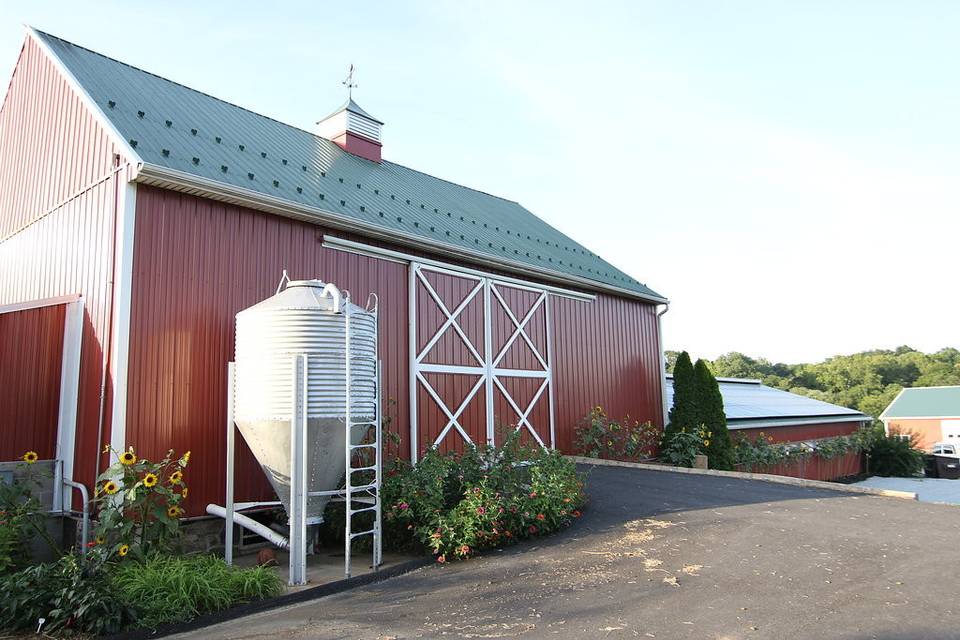
[[[348,323],[349,317],[349,323]],[[320,280],[288,282],[237,314],[237,428],[290,512],[293,358],[307,366],[307,490],[337,488],[345,469],[346,349],[350,327],[351,423],[371,422],[377,401],[377,317]],[[358,443],[366,427],[352,428]],[[307,500],[307,523],[322,520],[328,496]]]

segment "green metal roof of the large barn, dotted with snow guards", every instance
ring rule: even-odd
[[[370,162],[302,129],[36,33],[145,163],[386,233],[663,299],[516,202]]]

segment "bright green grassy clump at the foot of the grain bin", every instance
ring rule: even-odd
[[[230,567],[208,555],[151,555],[143,562],[123,562],[111,585],[121,603],[137,610],[142,627],[189,620],[284,590],[283,581],[268,568]]]

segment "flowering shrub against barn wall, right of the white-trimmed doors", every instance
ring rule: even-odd
[[[650,422],[607,417],[602,407],[590,410],[577,426],[574,446],[590,458],[641,460],[653,456],[662,436]]]

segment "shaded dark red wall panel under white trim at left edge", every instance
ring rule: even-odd
[[[65,310],[0,313],[0,460],[56,454]]]

